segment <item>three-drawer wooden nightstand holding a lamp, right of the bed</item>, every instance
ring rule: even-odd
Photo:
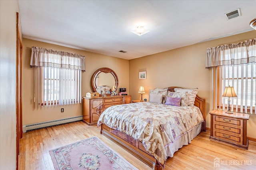
[[[210,115],[210,139],[248,149],[247,120],[250,115],[236,112],[229,114],[222,110],[213,110]]]

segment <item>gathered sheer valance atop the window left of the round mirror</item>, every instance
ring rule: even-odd
[[[85,71],[85,57],[64,51],[32,47],[31,67],[55,67]]]

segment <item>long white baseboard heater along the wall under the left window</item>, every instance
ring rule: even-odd
[[[38,129],[38,128],[43,128],[43,127],[49,127],[49,126],[54,126],[54,125],[60,125],[62,123],[70,123],[73,121],[80,121],[83,119],[83,116],[76,116],[76,117],[69,117],[65,119],[58,119],[58,120],[52,120],[52,121],[45,121],[45,122],[40,122],[40,123],[34,123],[30,125],[23,125],[22,126],[22,131],[23,133],[33,130],[33,129]]]

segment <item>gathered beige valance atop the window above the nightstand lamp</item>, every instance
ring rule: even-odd
[[[249,63],[256,63],[256,38],[208,48],[206,51],[206,68]]]

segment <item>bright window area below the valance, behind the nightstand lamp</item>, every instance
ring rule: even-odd
[[[256,64],[240,64],[220,67],[219,78],[223,92],[226,86],[233,86],[237,98],[231,98],[234,111],[241,113],[255,112],[256,104]],[[227,104],[227,99],[220,100],[219,107]]]

